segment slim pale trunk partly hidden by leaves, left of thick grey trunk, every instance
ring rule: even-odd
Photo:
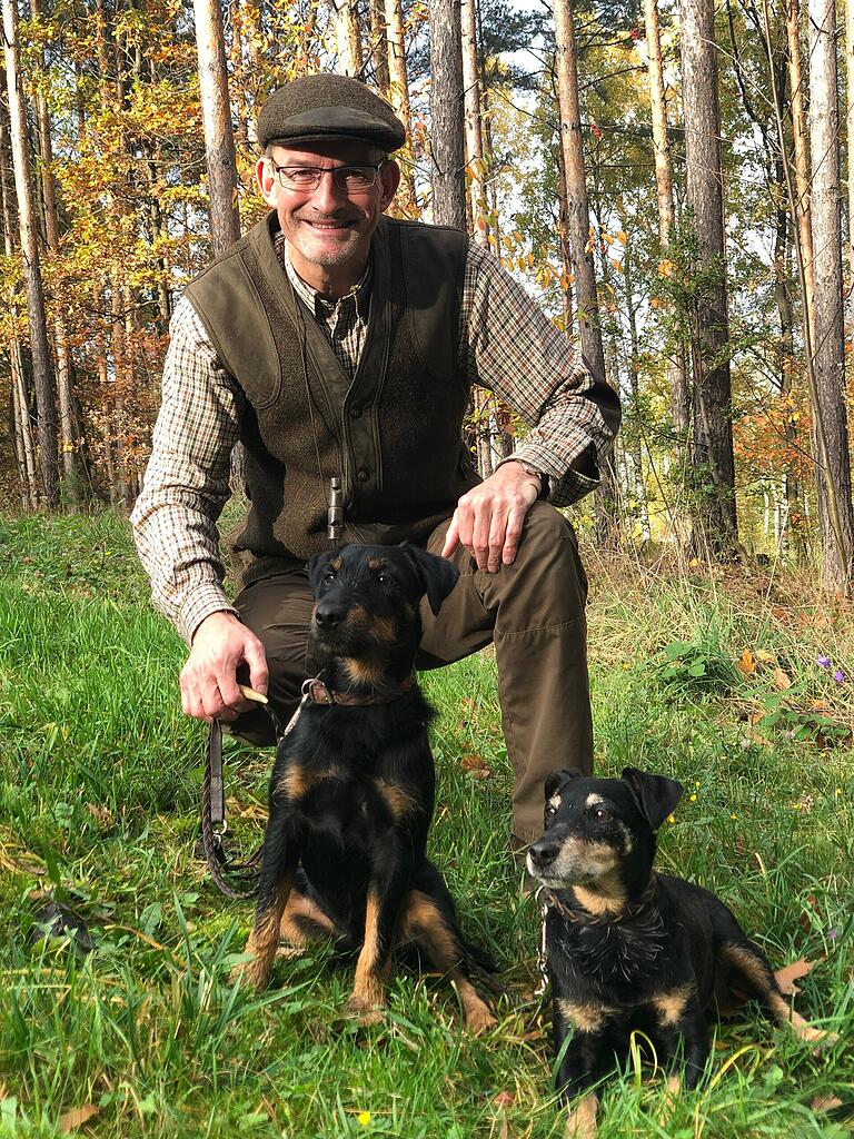
[[[667,139],[667,99],[662,63],[662,34],[658,25],[657,0],[643,0],[643,19],[647,31],[647,60],[649,67],[649,101],[652,116],[652,147],[656,163],[656,187],[658,190],[658,240],[666,254],[671,244],[671,231],[675,220],[673,208],[673,163]],[[682,345],[670,346],[667,377],[671,388],[671,411],[673,427],[679,440],[679,451],[687,459],[688,434],[691,423],[691,396],[685,377],[685,361]]]

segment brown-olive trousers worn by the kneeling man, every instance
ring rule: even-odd
[[[447,525],[430,535],[432,552],[441,552]],[[531,842],[542,833],[542,787],[549,772],[592,770],[588,582],[577,542],[561,514],[535,502],[511,566],[484,573],[461,547],[452,560],[460,580],[438,616],[426,603],[421,606],[424,636],[416,665],[441,667],[494,644],[501,722],[515,775],[512,833]],[[235,599],[241,620],[266,648],[268,695],[284,722],[296,707],[303,680],[314,674],[307,636],[312,605],[304,571],[262,579]],[[249,743],[273,743],[262,708],[239,716],[231,730]]]

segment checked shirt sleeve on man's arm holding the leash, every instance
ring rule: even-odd
[[[237,613],[223,589],[216,521],[230,495],[245,396],[220,367],[189,301],[175,306],[170,334],[151,458],[131,525],[151,599],[190,644],[212,613]]]

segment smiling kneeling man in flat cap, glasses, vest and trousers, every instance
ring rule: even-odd
[[[367,87],[312,75],[258,118],[266,219],[184,293],[172,321],[163,405],[132,515],[157,606],[190,646],[183,711],[272,743],[311,675],[306,559],[328,549],[330,482],[342,542],[409,540],[451,557],[460,581],[425,609],[419,667],[495,645],[514,764],[517,845],[539,834],[556,765],[589,772],[586,581],[555,509],[590,491],[619,420],[525,292],[463,233],[385,216],[404,131]],[[531,425],[479,482],[461,425],[473,383]],[[223,591],[216,519],[229,456],[246,454],[251,509]]]

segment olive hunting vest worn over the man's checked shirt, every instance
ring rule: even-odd
[[[466,236],[380,219],[368,335],[351,382],[294,293],[277,232],[271,213],[187,289],[247,399],[251,508],[235,540],[244,584],[329,549],[334,475],[344,487],[342,541],[379,544],[422,542],[478,482],[457,359]]]

